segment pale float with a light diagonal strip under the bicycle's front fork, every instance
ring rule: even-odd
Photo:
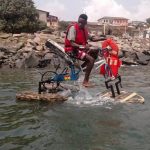
[[[113,98],[111,92],[107,91],[107,92],[101,93],[100,97],[101,98],[111,98],[111,99],[114,99],[121,103],[141,103],[141,104],[143,104],[145,102],[144,98],[135,92],[121,91],[120,93],[121,93],[120,95],[116,94],[116,97]]]

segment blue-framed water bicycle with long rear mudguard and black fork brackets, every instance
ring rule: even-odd
[[[57,60],[57,65],[55,65],[54,71],[46,71],[42,74],[41,80],[39,81],[38,93],[42,92],[55,93],[59,89],[62,82],[65,81],[77,81],[79,78],[80,72],[83,71],[83,68],[77,63],[77,59],[74,56],[70,56],[64,52],[63,47],[54,42],[53,40],[47,40],[45,46],[56,56],[62,58],[66,62],[66,66],[62,69],[60,73],[58,73],[58,69],[60,68],[60,61]],[[105,86],[111,91],[112,97],[115,97],[114,85],[111,84],[112,81],[115,82],[115,87],[117,94],[120,95],[120,87],[121,85],[121,76],[117,74],[116,77],[110,78],[110,72],[112,72],[110,66],[107,64],[107,61],[103,58],[103,54],[108,49],[98,49],[99,57],[95,62],[96,69],[100,68],[102,65],[105,65]],[[55,58],[54,58],[55,59]]]

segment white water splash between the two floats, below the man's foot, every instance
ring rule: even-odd
[[[114,99],[102,97],[101,93],[96,93],[97,89],[85,88],[82,86],[83,76],[80,76],[76,84],[79,86],[79,91],[72,92],[70,89],[61,93],[62,96],[68,97],[67,103],[71,103],[80,107],[86,106],[105,106],[111,109]],[[97,87],[96,87],[97,88]]]

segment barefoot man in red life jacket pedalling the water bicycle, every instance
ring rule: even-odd
[[[98,56],[98,50],[91,49],[87,40],[90,39],[96,42],[105,40],[105,38],[96,39],[88,35],[86,28],[87,19],[88,17],[86,14],[81,14],[78,18],[78,22],[68,27],[65,38],[65,52],[73,54],[75,58],[84,61],[81,65],[82,68],[86,67],[83,86],[92,87],[93,85],[89,82],[89,76]]]

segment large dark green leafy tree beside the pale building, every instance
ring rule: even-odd
[[[40,24],[32,0],[0,0],[0,30],[11,33],[35,32]]]

